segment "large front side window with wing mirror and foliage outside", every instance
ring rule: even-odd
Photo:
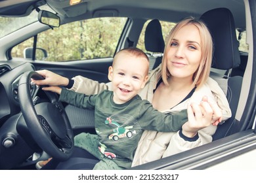
[[[127,18],[81,20],[37,35],[35,59],[73,61],[113,57]],[[34,38],[12,48],[15,58],[32,58]]]

